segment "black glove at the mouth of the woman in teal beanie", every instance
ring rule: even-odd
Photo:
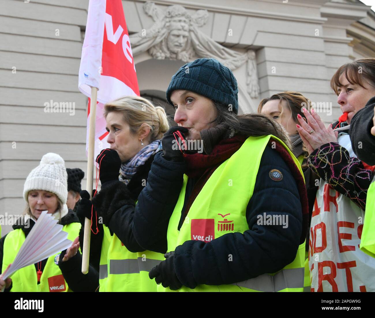
[[[163,146],[163,157],[168,161],[183,161],[182,152],[178,144],[183,144],[183,141],[179,139],[176,131],[180,131],[183,139],[186,142],[186,137],[184,134],[187,134],[189,130],[185,127],[174,126],[168,129],[168,131],[163,135],[162,146]],[[175,136],[174,134],[175,133]],[[177,138],[177,142],[175,140]]]

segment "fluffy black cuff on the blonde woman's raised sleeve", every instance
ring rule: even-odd
[[[93,205],[103,224],[108,226],[113,214],[124,205],[135,206],[126,184],[121,181],[108,182],[93,198]]]

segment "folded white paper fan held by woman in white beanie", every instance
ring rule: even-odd
[[[5,280],[20,268],[43,261],[72,245],[72,241],[67,238],[68,233],[62,231],[63,226],[57,224],[52,214],[47,212],[43,211],[40,214],[16,258],[1,274],[1,279]]]

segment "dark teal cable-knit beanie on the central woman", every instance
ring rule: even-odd
[[[166,100],[171,102],[173,90],[185,89],[221,102],[232,104],[234,113],[238,113],[238,87],[232,71],[215,59],[196,59],[186,63],[172,76],[166,90]]]

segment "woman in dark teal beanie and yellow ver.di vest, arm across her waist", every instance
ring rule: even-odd
[[[187,63],[169,84],[178,126],[164,134],[132,225],[140,246],[166,253],[150,271],[158,291],[303,291],[302,170],[278,123],[237,115],[237,94],[214,59]]]

